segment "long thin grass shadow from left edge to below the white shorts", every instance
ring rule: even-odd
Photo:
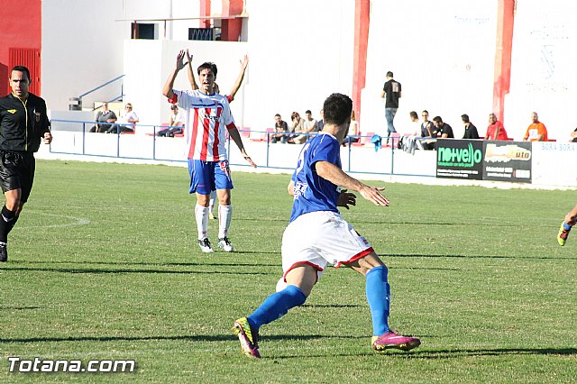
[[[87,273],[87,274],[114,274],[114,273],[150,273],[150,274],[175,274],[175,275],[192,275],[192,274],[201,274],[201,275],[278,275],[278,273],[273,272],[228,272],[225,270],[213,270],[213,271],[206,271],[206,270],[131,270],[131,269],[96,269],[96,268],[84,268],[84,269],[76,269],[76,268],[2,268],[0,270],[5,271],[12,271],[12,270],[33,270],[37,272],[57,272],[57,273],[72,273],[72,274],[79,274],[79,273]]]

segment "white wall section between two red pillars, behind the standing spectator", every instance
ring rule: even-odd
[[[492,105],[497,2],[371,2],[362,132],[386,134],[380,98],[387,71],[402,85],[395,126],[408,133],[410,111],[440,115],[463,137],[462,114],[485,133]]]

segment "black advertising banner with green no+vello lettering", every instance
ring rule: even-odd
[[[481,180],[482,140],[437,139],[436,177]]]

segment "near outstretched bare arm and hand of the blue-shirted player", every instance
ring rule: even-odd
[[[367,186],[344,173],[343,169],[338,168],[333,163],[316,161],[316,173],[336,186],[359,192],[362,197],[371,201],[375,206],[389,206],[389,199],[380,194],[380,191],[385,189],[384,187]]]

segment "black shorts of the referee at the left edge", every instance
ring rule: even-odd
[[[0,151],[0,185],[6,193],[22,189],[20,201],[25,203],[30,197],[36,160],[32,153]]]

